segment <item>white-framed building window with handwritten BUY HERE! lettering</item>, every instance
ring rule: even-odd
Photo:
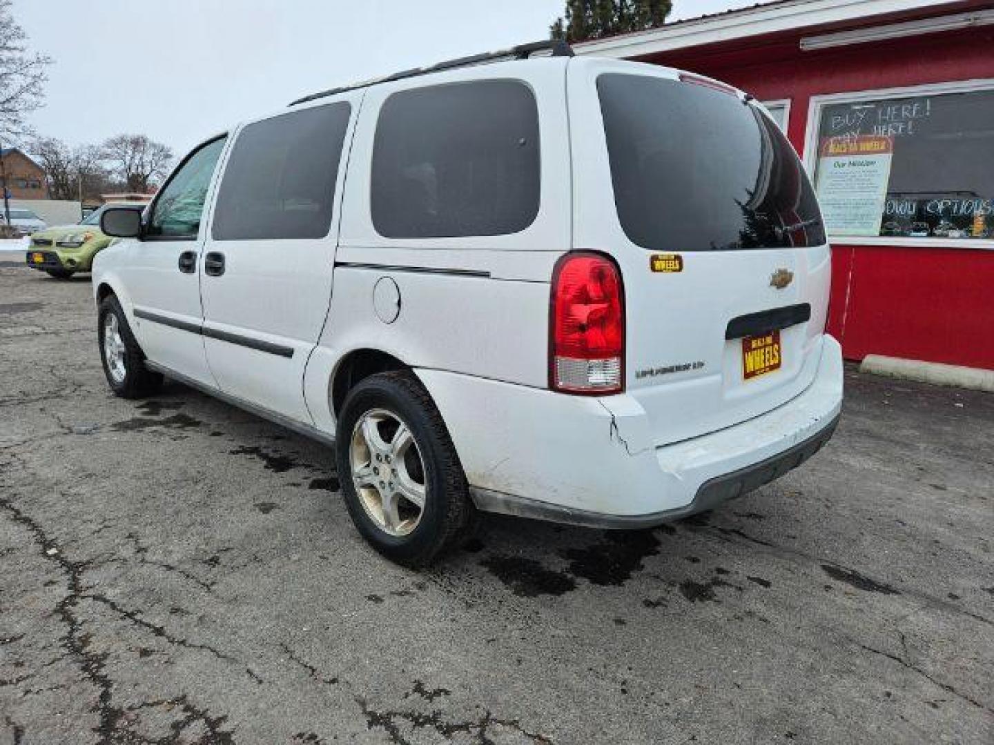
[[[994,85],[826,96],[808,161],[831,236],[994,236]]]

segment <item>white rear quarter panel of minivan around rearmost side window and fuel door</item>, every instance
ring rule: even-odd
[[[547,385],[549,283],[572,238],[565,75],[566,61],[538,60],[425,75],[367,91],[349,159],[331,308],[306,373],[317,426],[334,426],[328,385],[338,361],[356,349],[381,350],[414,368]],[[383,103],[398,90],[494,78],[520,80],[536,98],[542,188],[535,221],[505,235],[380,235],[371,219],[370,191]],[[381,278],[400,290],[400,315],[393,323],[374,309]]]

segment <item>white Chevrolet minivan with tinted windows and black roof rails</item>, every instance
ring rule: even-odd
[[[218,134],[93,268],[110,387],[166,375],[336,445],[422,564],[477,511],[643,527],[832,435],[830,249],[795,152],[710,78],[528,45]]]

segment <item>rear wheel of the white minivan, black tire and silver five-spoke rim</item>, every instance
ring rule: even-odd
[[[352,521],[391,560],[422,566],[468,536],[474,508],[465,474],[412,373],[370,375],[349,392],[336,461]]]

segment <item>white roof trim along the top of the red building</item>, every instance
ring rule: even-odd
[[[717,16],[680,21],[658,29],[609,39],[580,42],[574,44],[573,49],[578,55],[624,60],[778,31],[949,4],[950,0],[794,0],[791,3],[744,8]]]

